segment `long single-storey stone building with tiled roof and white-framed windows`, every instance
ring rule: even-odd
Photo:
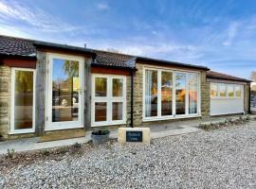
[[[0,134],[249,112],[249,83],[200,65],[0,36]]]

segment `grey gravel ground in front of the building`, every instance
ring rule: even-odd
[[[256,188],[256,122],[20,164],[0,188]]]

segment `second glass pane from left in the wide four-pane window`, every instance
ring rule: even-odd
[[[161,115],[173,114],[173,73],[162,72]]]

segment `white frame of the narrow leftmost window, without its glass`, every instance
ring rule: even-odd
[[[33,73],[33,115],[31,129],[15,129],[15,72],[25,71]],[[36,70],[30,68],[11,68],[11,100],[10,100],[10,134],[32,133],[35,132],[35,98],[36,98]]]

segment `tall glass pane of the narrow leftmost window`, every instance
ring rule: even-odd
[[[14,129],[33,127],[33,72],[15,71]]]

